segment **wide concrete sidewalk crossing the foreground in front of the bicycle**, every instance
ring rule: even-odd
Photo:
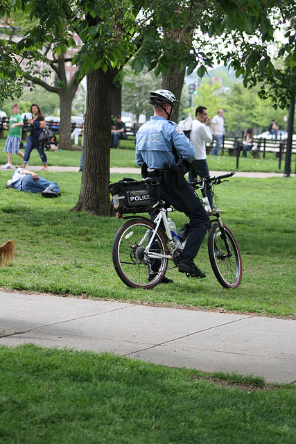
[[[0,307],[0,345],[106,351],[296,383],[293,320],[6,292]]]

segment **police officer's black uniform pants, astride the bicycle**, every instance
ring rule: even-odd
[[[157,185],[157,188],[162,200],[166,200],[176,210],[189,217],[190,230],[182,253],[182,260],[189,262],[198,254],[204,236],[209,229],[209,215],[204,210],[200,198],[186,180],[184,180],[184,186],[179,188],[175,178],[171,176],[169,185],[165,185],[163,181]],[[148,185],[148,191],[150,203],[154,205],[157,203],[154,187]],[[157,212],[158,210],[150,214],[151,219],[154,219]]]

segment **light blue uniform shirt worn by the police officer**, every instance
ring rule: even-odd
[[[179,157],[188,162],[196,159],[195,148],[177,123],[153,116],[142,125],[137,132],[136,162],[141,165],[146,162],[150,169],[163,169],[167,162],[171,168],[173,164],[180,165],[181,159],[176,162],[173,155],[175,146]]]

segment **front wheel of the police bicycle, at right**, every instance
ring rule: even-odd
[[[243,267],[241,263],[241,253],[232,232],[223,223],[226,239],[218,223],[214,223],[209,230],[208,250],[211,268],[218,282],[224,288],[235,289],[241,283]],[[226,242],[230,249],[227,253]]]

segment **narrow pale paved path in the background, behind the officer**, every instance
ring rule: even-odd
[[[28,169],[31,171],[40,171],[42,169],[42,165],[39,166],[29,166]],[[13,171],[13,170],[12,170]],[[79,167],[54,167],[50,166],[49,171],[74,171],[78,172]],[[210,171],[211,176],[219,176],[220,174],[225,174],[226,171]],[[141,171],[139,168],[110,168],[110,173],[120,173],[120,174],[140,174]],[[42,173],[41,173],[42,174]],[[236,177],[241,178],[275,178],[275,177],[283,177],[283,173],[260,173],[260,172],[236,172]]]

